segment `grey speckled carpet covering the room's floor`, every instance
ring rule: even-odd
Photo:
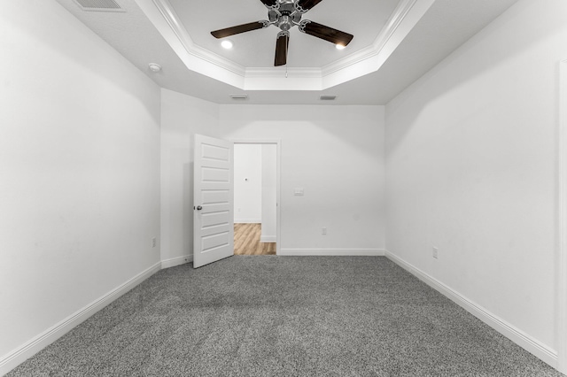
[[[162,270],[9,376],[562,376],[383,257]]]

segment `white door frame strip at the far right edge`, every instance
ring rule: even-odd
[[[559,64],[558,203],[557,221],[557,369],[567,374],[567,59]]]

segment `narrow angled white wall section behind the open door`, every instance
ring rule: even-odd
[[[193,255],[194,135],[217,136],[219,106],[161,90],[161,259],[179,265]]]

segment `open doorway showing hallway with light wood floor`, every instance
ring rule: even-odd
[[[234,253],[279,249],[279,142],[234,142]]]

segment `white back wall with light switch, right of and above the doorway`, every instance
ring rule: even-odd
[[[228,140],[281,140],[284,254],[384,248],[384,107],[221,105],[220,127]]]

